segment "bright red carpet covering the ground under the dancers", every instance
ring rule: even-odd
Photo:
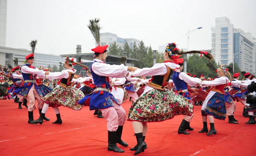
[[[131,102],[122,104],[127,112]],[[132,156],[129,148],[136,145],[131,122],[124,125],[122,140],[128,147],[118,145],[125,153],[108,151],[108,133],[105,119],[98,119],[88,107],[80,111],[60,107],[62,125],[49,108],[46,116],[51,119],[42,125],[28,124],[27,110],[18,109],[13,100],[0,100],[0,155],[1,156]],[[178,134],[183,116],[164,122],[148,123],[145,138],[148,149],[139,156],[253,156],[256,154],[256,125],[247,125],[242,116],[243,105],[237,103],[235,118],[239,124],[229,124],[228,119],[215,119],[217,135],[198,133],[202,129],[201,106],[195,106],[190,123],[190,135]],[[38,109],[34,119],[38,119]],[[209,122],[208,122],[209,128]]]

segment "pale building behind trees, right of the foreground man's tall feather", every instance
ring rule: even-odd
[[[122,47],[122,45],[124,45],[125,42],[127,42],[128,45],[130,46],[130,48],[133,48],[134,43],[136,43],[136,45],[138,45],[140,43],[140,40],[137,40],[134,38],[117,37],[116,34],[112,34],[109,32],[100,33],[100,45],[110,45],[111,43],[114,43],[114,42],[116,42],[116,45],[119,47]]]

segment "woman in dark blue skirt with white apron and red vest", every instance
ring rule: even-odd
[[[201,85],[205,86],[214,86],[212,90],[209,92],[208,96],[204,100],[204,104],[201,108],[202,118],[203,118],[203,124],[204,128],[199,131],[199,133],[208,132],[207,128],[207,117],[210,122],[211,129],[207,135],[216,134],[217,131],[214,128],[214,119],[221,119],[224,120],[226,118],[226,108],[225,108],[225,101],[224,101],[224,88],[226,87],[227,83],[230,82],[230,80],[225,77],[225,74],[228,74],[230,79],[231,75],[226,69],[221,65],[217,69],[218,77],[217,79],[214,79],[213,81],[203,81],[201,82]]]

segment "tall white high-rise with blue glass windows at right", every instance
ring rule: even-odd
[[[241,71],[255,73],[256,43],[250,32],[235,28],[227,17],[215,19],[212,27],[212,56],[217,64],[235,62]]]

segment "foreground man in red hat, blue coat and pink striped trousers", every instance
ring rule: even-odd
[[[121,139],[123,125],[125,124],[126,113],[117,99],[110,93],[111,85],[109,84],[109,77],[122,78],[128,74],[128,71],[135,71],[137,67],[128,67],[122,65],[109,65],[104,61],[107,55],[108,45],[98,45],[93,48],[96,58],[91,65],[91,73],[93,76],[94,89],[92,94],[84,96],[79,101],[81,105],[90,106],[90,110],[99,109],[102,116],[108,121],[108,150],[114,152],[124,152],[116,143],[123,146],[128,146],[126,142]]]

